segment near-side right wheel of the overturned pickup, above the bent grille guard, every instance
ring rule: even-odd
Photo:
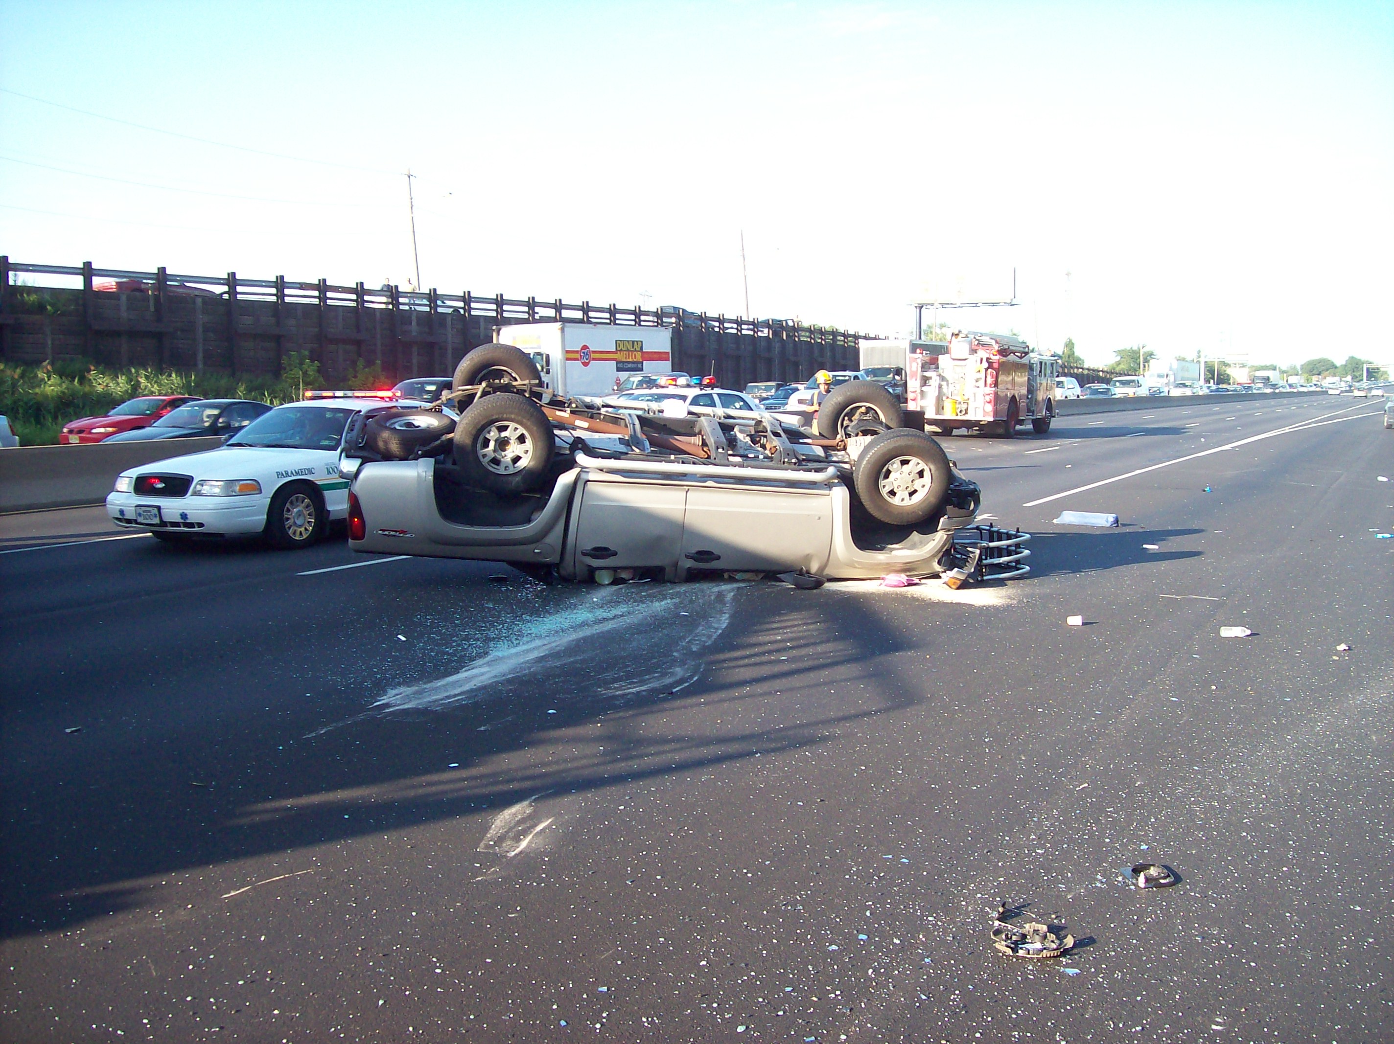
[[[940,443],[909,428],[875,436],[852,468],[863,507],[892,525],[914,525],[934,514],[948,495],[951,477]]]

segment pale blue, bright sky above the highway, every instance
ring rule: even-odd
[[[1394,362],[1394,4],[0,0],[0,252]],[[329,166],[342,164],[342,166]],[[379,173],[381,171],[381,173]],[[99,177],[89,177],[99,176]],[[139,183],[139,184],[128,184]],[[1069,273],[1066,276],[1066,273]]]

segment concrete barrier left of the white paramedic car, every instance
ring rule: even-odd
[[[0,450],[0,514],[99,505],[128,467],[216,449],[220,438]]]

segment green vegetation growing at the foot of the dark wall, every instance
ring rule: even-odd
[[[18,367],[0,362],[0,414],[10,418],[21,446],[47,446],[78,417],[98,417],[142,394],[197,394],[204,399],[254,399],[279,406],[322,387],[319,364],[300,353],[286,355],[279,378],[233,378],[148,368],[110,369],[84,362]]]

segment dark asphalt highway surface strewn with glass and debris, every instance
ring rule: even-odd
[[[1214,403],[948,439],[956,594],[0,520],[0,1038],[1394,1037],[1394,432]]]

